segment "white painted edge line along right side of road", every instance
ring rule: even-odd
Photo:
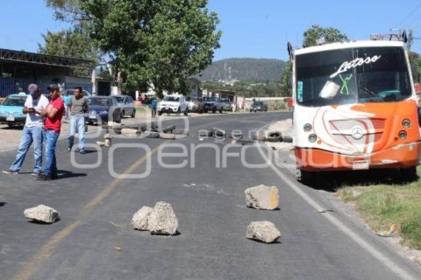
[[[265,145],[265,144],[264,144]],[[289,186],[294,190],[298,195],[300,195],[307,203],[309,203],[316,211],[320,209],[325,209],[320,204],[318,204],[314,199],[312,199],[309,195],[307,195],[295,182],[292,182],[288,177],[285,176],[278,168],[276,168],[270,159],[264,154],[262,150],[262,144],[258,143],[258,150],[263,159],[267,162],[270,168]],[[353,232],[350,228],[345,226],[341,221],[336,219],[332,214],[326,212],[323,213],[323,217],[326,217],[334,226],[336,226],[339,230],[343,233],[348,235],[354,242],[360,245],[363,249],[365,249],[369,254],[371,254],[374,258],[379,260],[383,263],[384,266],[389,268],[393,273],[395,273],[398,277],[405,279],[405,280],[417,280],[414,276],[410,275],[407,271],[402,269],[399,265],[397,265],[393,260],[382,254],[378,251],[374,246],[368,243],[364,238],[362,238],[357,233]]]

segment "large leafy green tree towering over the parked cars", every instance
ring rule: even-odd
[[[221,32],[207,0],[47,0],[59,19],[87,21],[127,92],[187,92],[186,78],[208,66]]]

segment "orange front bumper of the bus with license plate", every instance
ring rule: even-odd
[[[370,154],[347,155],[315,148],[295,147],[297,167],[305,171],[365,170],[417,166],[421,142],[403,143]]]

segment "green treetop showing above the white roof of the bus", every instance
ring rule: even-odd
[[[304,31],[303,47],[316,46],[316,40],[324,38],[325,43],[345,42],[348,37],[336,28],[323,28],[320,25],[312,25]]]

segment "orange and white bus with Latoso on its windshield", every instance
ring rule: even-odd
[[[402,42],[360,41],[293,53],[294,150],[301,180],[318,171],[399,168],[420,160],[417,97]]]

